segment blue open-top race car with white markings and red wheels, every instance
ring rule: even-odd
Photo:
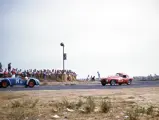
[[[13,87],[14,85],[33,88],[35,85],[40,85],[40,81],[32,77],[26,80],[20,76],[15,78],[0,78],[0,87],[7,88],[8,86]]]

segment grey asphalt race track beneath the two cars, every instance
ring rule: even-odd
[[[34,88],[25,88],[24,86],[13,86],[0,88],[0,91],[27,91],[27,90],[68,90],[68,89],[122,89],[122,88],[142,88],[142,87],[159,87],[159,81],[134,81],[131,85],[102,86],[100,82],[90,84],[70,84],[70,85],[46,85],[35,86]]]

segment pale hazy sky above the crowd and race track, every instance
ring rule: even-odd
[[[78,78],[159,74],[158,0],[0,0],[0,62]]]

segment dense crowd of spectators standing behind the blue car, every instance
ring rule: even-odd
[[[29,70],[22,70],[22,69],[15,69],[12,68],[11,63],[8,64],[8,69],[5,68],[3,70],[2,64],[0,63],[0,77],[12,77],[12,76],[27,76],[27,77],[35,77],[38,79],[47,79],[47,80],[57,80],[61,75],[66,74],[68,76],[73,76],[76,79],[77,74],[71,70],[56,70],[56,69],[29,69]]]

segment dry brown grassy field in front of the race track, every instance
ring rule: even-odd
[[[0,92],[0,120],[159,120],[159,87]]]

